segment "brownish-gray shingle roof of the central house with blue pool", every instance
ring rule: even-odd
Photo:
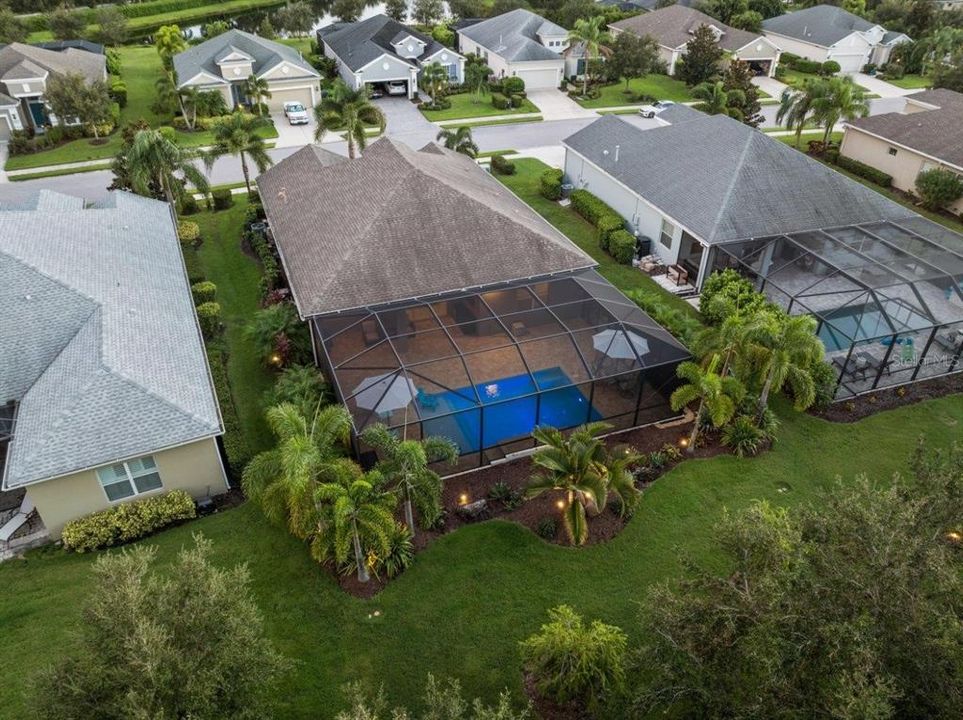
[[[383,138],[325,167],[309,147],[258,178],[303,317],[592,267],[464,155]]]

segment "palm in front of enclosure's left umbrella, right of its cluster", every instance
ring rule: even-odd
[[[366,428],[361,439],[378,451],[380,460],[376,469],[402,498],[405,524],[414,537],[413,505],[418,506],[418,514],[426,524],[441,513],[441,478],[428,465],[442,460],[454,463],[458,459],[458,447],[443,437],[401,440],[380,424]]]

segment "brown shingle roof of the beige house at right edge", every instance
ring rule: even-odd
[[[963,167],[963,95],[952,90],[913,93],[910,99],[936,105],[923,112],[884,113],[849,125],[890,142]]]

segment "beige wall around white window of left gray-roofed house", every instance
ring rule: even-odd
[[[224,467],[213,438],[152,453],[163,487],[119,502],[142,500],[174,489],[186,490],[194,498],[210,492],[217,495],[228,489]],[[119,502],[110,502],[104,493],[96,470],[65,475],[55,480],[30,485],[27,494],[33,500],[50,537],[57,539],[64,523]]]

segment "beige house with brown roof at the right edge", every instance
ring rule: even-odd
[[[893,187],[915,192],[924,170],[963,175],[963,95],[924,90],[906,97],[902,112],[860,118],[844,125],[840,154],[893,176]],[[949,207],[963,212],[963,198]]]

